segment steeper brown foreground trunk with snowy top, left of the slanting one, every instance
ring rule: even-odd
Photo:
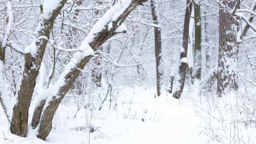
[[[37,36],[25,49],[25,64],[22,82],[18,90],[17,104],[14,106],[10,130],[13,134],[26,137],[28,131],[28,108],[36,85],[36,79],[56,17],[67,0],[44,0],[42,18],[37,27]],[[49,6],[50,4],[50,6]]]

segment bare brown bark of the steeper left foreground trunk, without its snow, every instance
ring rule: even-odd
[[[60,10],[63,8],[67,0],[62,0],[60,6],[52,12],[52,16],[48,20],[43,20],[42,29],[38,32],[39,36],[50,37],[50,32],[54,24],[54,20],[58,16]],[[42,10],[42,6],[41,6]],[[47,45],[47,40],[44,38],[36,42],[38,47],[37,55],[32,56],[30,53],[25,54],[24,72],[20,90],[18,91],[18,102],[14,106],[12,122],[10,124],[10,130],[13,134],[26,137],[28,126],[28,108],[36,85],[36,78],[42,63],[44,51]]]

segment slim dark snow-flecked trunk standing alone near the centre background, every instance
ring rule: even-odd
[[[154,24],[155,32],[155,56],[156,56],[156,88],[157,96],[161,95],[161,89],[164,85],[164,61],[162,58],[162,41],[161,41],[161,28],[158,22],[157,10],[155,0],[151,1],[151,11]]]

